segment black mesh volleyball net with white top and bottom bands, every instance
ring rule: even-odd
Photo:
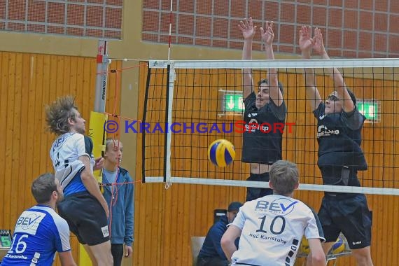
[[[143,134],[143,182],[267,187],[246,181],[249,164],[241,162],[241,70],[252,69],[256,92],[258,80],[276,68],[287,106],[282,158],[297,164],[299,189],[399,195],[398,66],[399,59],[150,61],[144,116],[136,129]],[[361,187],[323,185],[317,166],[317,121],[305,97],[304,69],[314,69],[325,99],[334,91],[325,71],[332,67],[342,73],[356,95],[357,109],[367,118],[361,148],[368,169],[358,172]],[[279,130],[276,125],[268,128]],[[216,167],[207,158],[208,146],[216,139],[235,146],[235,160],[228,167]]]

